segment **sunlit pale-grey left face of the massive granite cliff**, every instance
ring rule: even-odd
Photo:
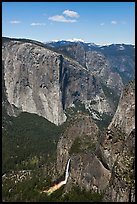
[[[59,55],[31,43],[9,41],[3,47],[3,61],[10,104],[57,125],[66,120],[59,87]]]

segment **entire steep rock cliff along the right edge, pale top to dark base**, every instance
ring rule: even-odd
[[[111,169],[105,191],[107,201],[135,200],[135,81],[121,94],[117,111],[110,123],[103,149]]]

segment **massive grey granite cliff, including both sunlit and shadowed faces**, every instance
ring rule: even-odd
[[[56,125],[66,121],[65,110],[76,101],[88,106],[91,112],[114,114],[115,106],[104,92],[98,74],[40,43],[4,40],[2,60],[3,81],[11,109],[36,113]],[[92,61],[96,70],[101,61],[105,63],[103,58],[99,63]],[[107,71],[107,66],[100,70]]]

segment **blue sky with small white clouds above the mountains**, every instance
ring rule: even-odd
[[[135,44],[135,2],[3,2],[2,35]]]

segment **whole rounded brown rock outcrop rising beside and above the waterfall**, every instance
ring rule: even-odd
[[[68,126],[57,146],[57,171],[62,175],[64,164],[71,159],[67,190],[78,184],[81,188],[102,191],[106,188],[111,173],[97,153],[99,129],[92,118],[78,114]]]

